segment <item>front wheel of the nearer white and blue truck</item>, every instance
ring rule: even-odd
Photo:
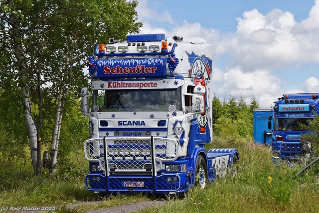
[[[199,155],[195,167],[195,186],[204,189],[207,183],[207,165],[205,159]]]

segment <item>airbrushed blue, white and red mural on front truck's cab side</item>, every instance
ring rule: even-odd
[[[191,116],[186,114],[168,120],[168,135],[175,136],[179,140],[178,156],[186,156],[192,152],[196,145],[203,144],[203,142],[209,143],[212,139],[211,103],[207,101],[207,97],[212,95],[212,72],[209,66],[211,59],[205,56],[198,57],[194,53],[188,54],[188,58],[189,79],[195,86],[201,85],[206,89],[205,94],[203,94],[205,110],[202,114]]]

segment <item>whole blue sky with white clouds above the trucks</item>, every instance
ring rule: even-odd
[[[254,96],[270,108],[283,93],[319,92],[319,0],[138,0],[141,33],[213,44],[213,91]]]

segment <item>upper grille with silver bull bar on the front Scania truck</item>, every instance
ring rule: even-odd
[[[103,138],[84,142],[85,158],[99,162],[102,171],[108,168],[108,172],[150,172],[153,171],[153,164],[156,166],[155,170],[160,171],[162,161],[174,161],[178,156],[178,142],[174,139],[153,137],[152,143],[151,137],[106,137],[105,143],[104,148]]]

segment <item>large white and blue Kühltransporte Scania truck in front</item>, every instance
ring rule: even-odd
[[[81,92],[90,118],[87,190],[181,193],[203,188],[239,159],[236,149],[204,148],[212,141],[213,98],[212,45],[204,39],[109,39],[88,66],[92,93]]]

